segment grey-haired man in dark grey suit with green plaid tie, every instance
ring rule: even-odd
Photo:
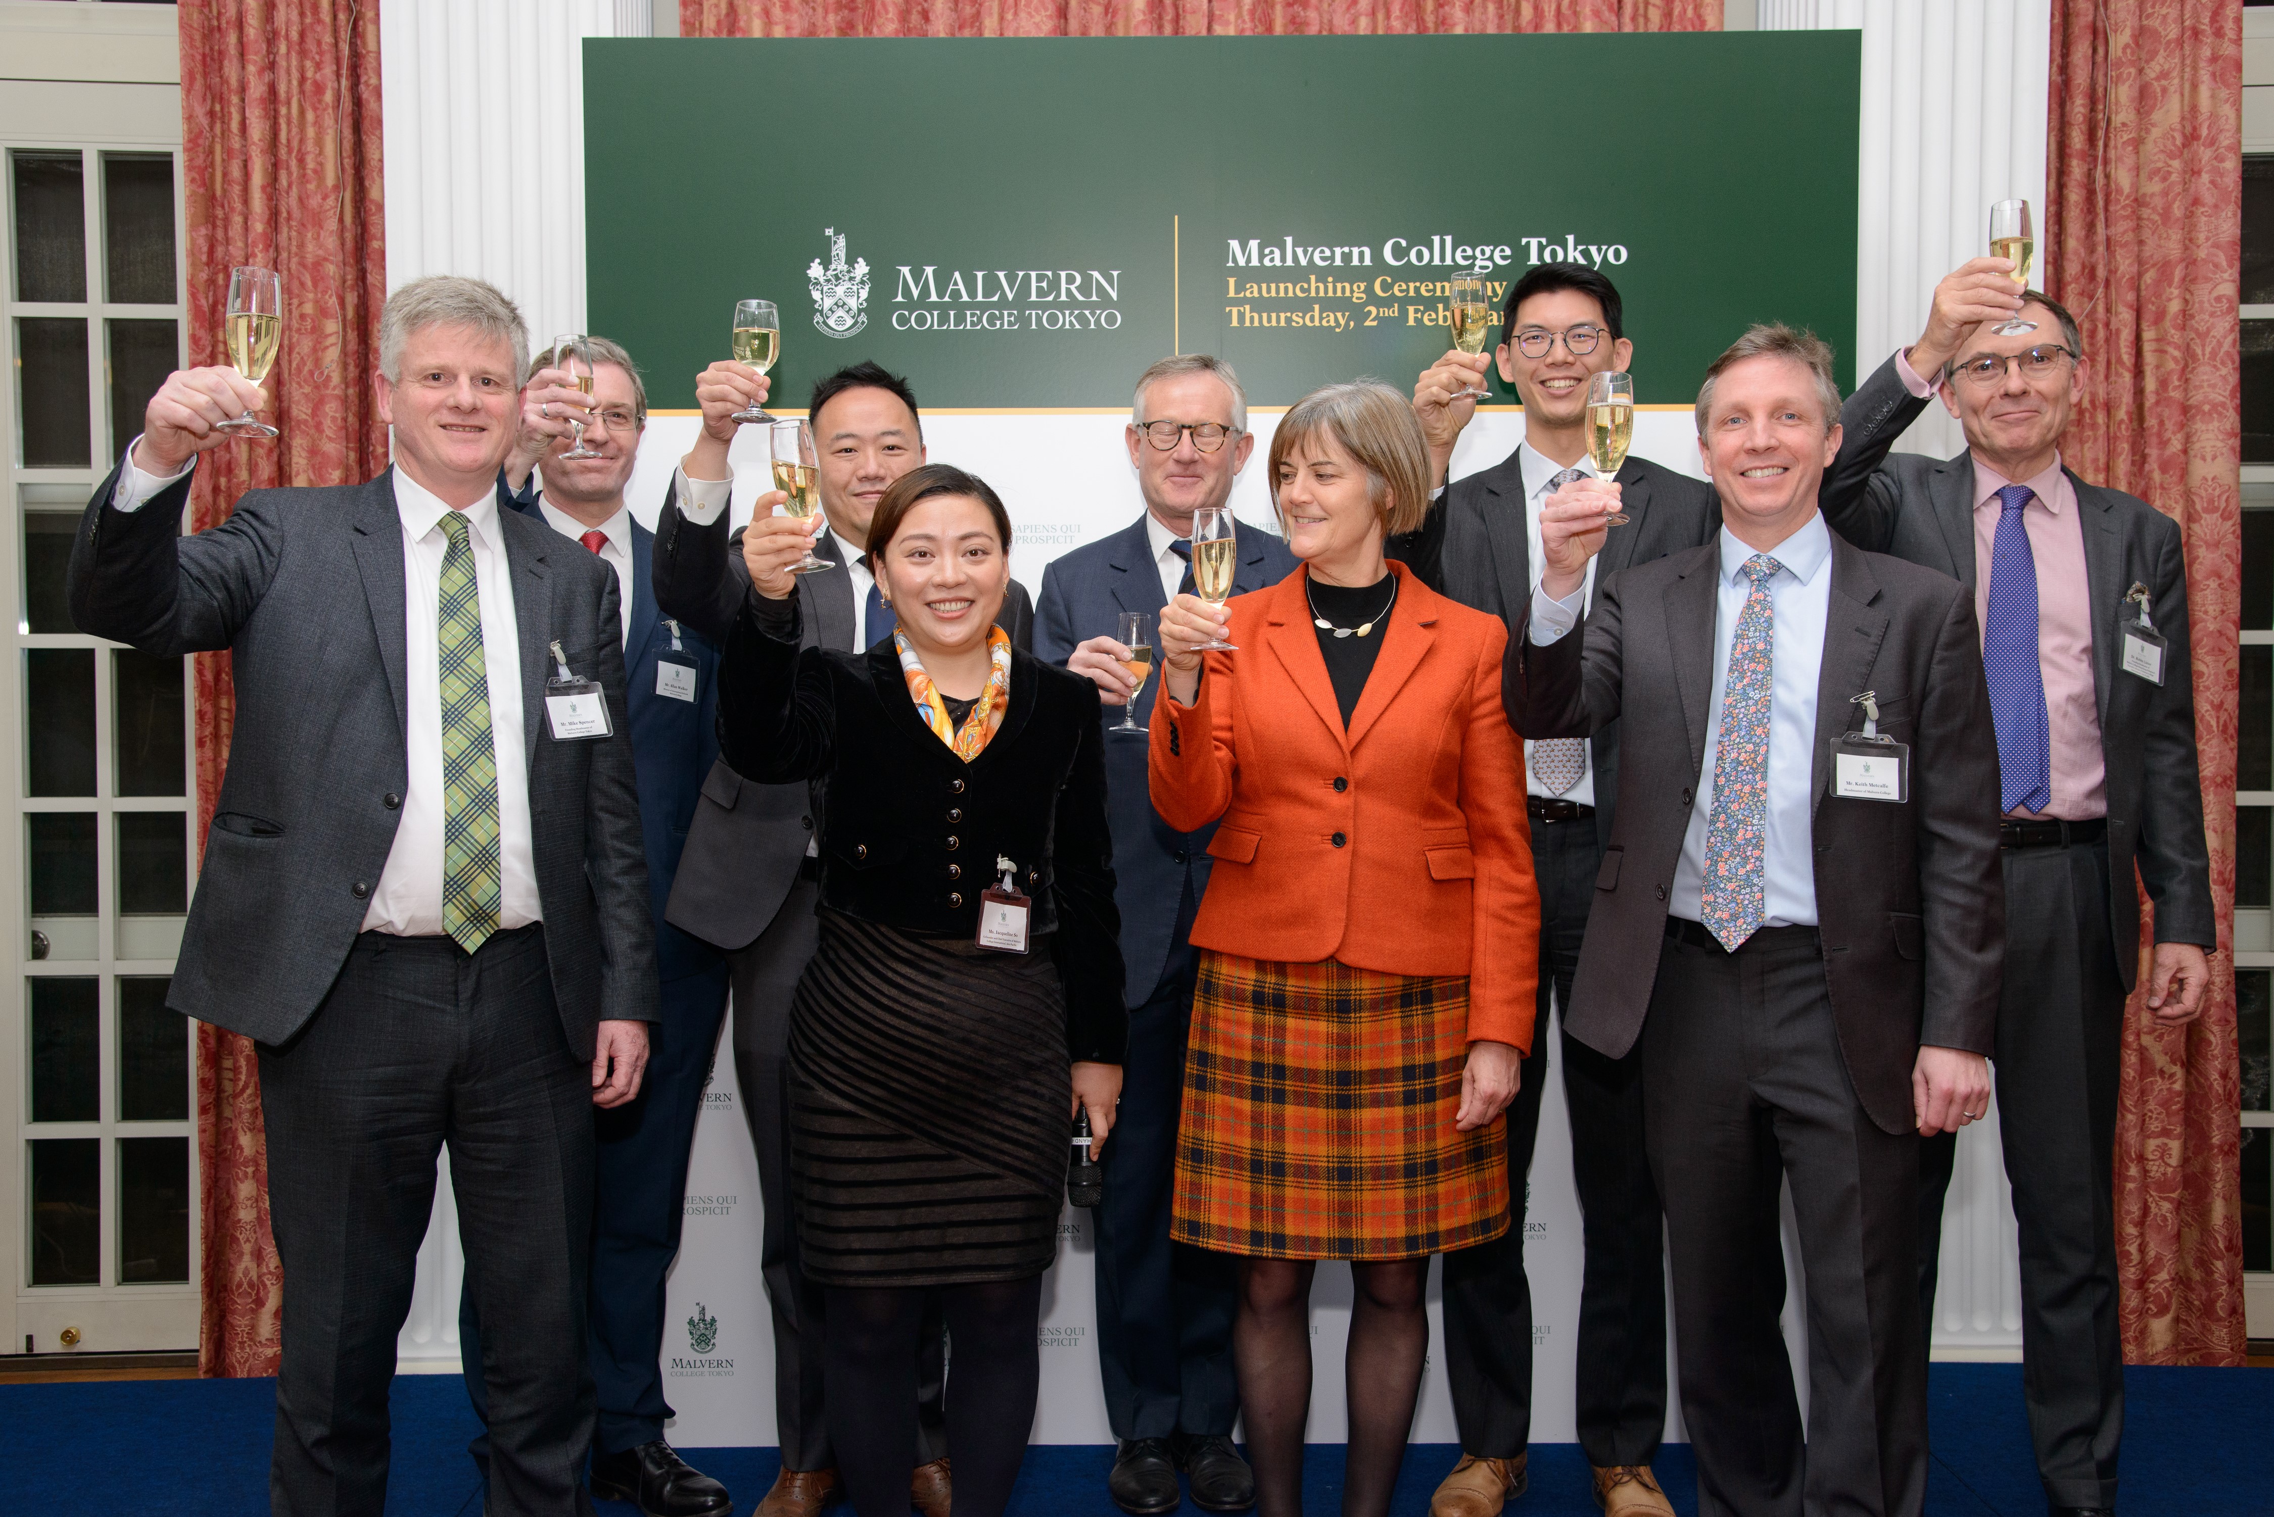
[[[193,459],[259,391],[175,373],[70,555],[84,632],[232,655],[236,735],[168,1003],[259,1044],[280,1515],[387,1503],[443,1144],[489,1326],[491,1510],[591,1510],[591,1108],[639,1089],[655,942],[616,580],[496,500],[525,366],[496,289],[405,284],[380,318],[396,466],[252,491],[196,537]]]

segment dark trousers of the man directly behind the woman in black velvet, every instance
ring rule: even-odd
[[[735,985],[735,1080],[741,1114],[757,1151],[757,1194],[764,1205],[760,1271],[773,1310],[773,1426],[787,1469],[835,1469],[823,1396],[825,1312],[821,1285],[798,1265],[798,1226],[789,1192],[789,1001],[814,958],[821,923],[821,885],[800,878],[782,910],[748,946],[728,953]],[[928,1465],[948,1453],[946,1317],[937,1299],[926,1305],[916,1353],[916,1458]]]

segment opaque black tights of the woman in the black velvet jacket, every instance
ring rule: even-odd
[[[1001,1517],[1035,1428],[1041,1276],[941,1285],[948,1317],[948,1449],[955,1517]],[[860,1517],[907,1517],[916,1446],[916,1333],[923,1287],[828,1287],[823,1390],[837,1474]]]

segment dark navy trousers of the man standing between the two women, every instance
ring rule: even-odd
[[[1160,985],[1130,1010],[1121,1114],[1105,1144],[1096,1208],[1098,1371],[1114,1437],[1230,1435],[1237,1262],[1169,1237],[1176,1126],[1185,1101],[1185,1042],[1201,955],[1192,946],[1192,889]]]

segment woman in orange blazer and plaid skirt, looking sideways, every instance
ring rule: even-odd
[[[1539,896],[1508,635],[1383,557],[1428,509],[1412,407],[1376,382],[1314,391],[1269,471],[1303,564],[1160,616],[1153,805],[1217,823],[1173,1235],[1242,1255],[1262,1517],[1301,1512],[1310,1278],[1351,1260],[1342,1510],[1362,1517],[1389,1510],[1405,1456],[1428,1255],[1508,1230],[1501,1112],[1533,1042]],[[1237,650],[1201,653],[1219,637]]]

